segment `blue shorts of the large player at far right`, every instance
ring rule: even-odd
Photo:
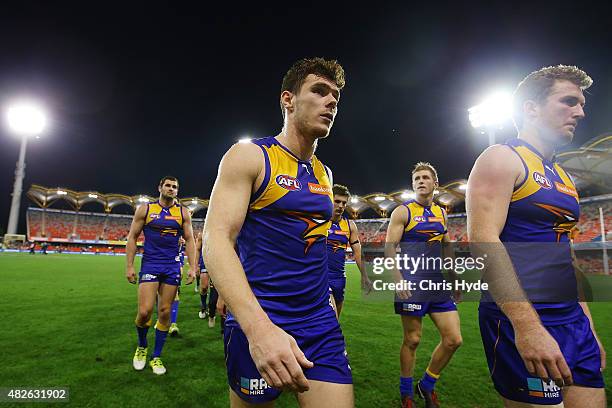
[[[480,333],[489,372],[497,392],[512,401],[538,405],[561,403],[561,390],[553,380],[533,377],[527,372],[523,359],[514,345],[514,329],[506,319],[490,316],[479,310]],[[591,330],[589,319],[582,314],[573,322],[545,325],[559,344],[567,361],[574,384],[589,388],[603,388],[599,370],[599,346]]]

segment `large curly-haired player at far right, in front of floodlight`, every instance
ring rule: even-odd
[[[479,319],[491,377],[506,407],[606,406],[605,351],[587,304],[578,301],[570,256],[578,194],[554,160],[585,116],[583,91],[591,84],[573,66],[529,74],[514,93],[518,137],[485,150],[470,174],[472,251],[497,244]],[[517,252],[521,243],[529,248]],[[545,254],[537,250],[543,246]],[[557,283],[570,285],[571,295],[532,300],[554,298],[542,284]]]

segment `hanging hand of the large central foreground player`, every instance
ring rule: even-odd
[[[292,392],[304,392],[310,384],[303,368],[312,368],[293,337],[272,322],[254,323],[248,337],[249,352],[268,385]]]

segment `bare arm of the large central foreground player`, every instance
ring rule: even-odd
[[[275,388],[306,391],[302,367],[310,368],[293,337],[274,325],[246,279],[234,246],[246,217],[252,191],[261,183],[264,159],[254,144],[236,144],[223,157],[213,187],[203,255],[215,287],[240,324],[249,351],[265,381]]]

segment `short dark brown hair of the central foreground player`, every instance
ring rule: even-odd
[[[320,57],[302,58],[296,61],[283,77],[281,93],[289,91],[293,94],[297,94],[309,74],[329,79],[336,84],[338,89],[344,88],[346,83],[344,79],[344,68],[342,68],[342,65],[340,65],[338,61],[326,60]],[[282,103],[281,110],[284,115],[285,110],[283,109]]]

